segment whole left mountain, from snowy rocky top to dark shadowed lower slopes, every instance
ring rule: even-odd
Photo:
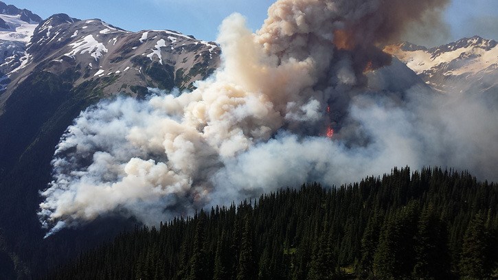
[[[102,99],[146,97],[148,87],[193,89],[218,67],[220,47],[100,19],[42,20],[3,2],[0,19],[0,279],[30,279],[133,224],[104,220],[90,235],[43,240],[38,191],[51,180],[54,147],[73,119]]]

